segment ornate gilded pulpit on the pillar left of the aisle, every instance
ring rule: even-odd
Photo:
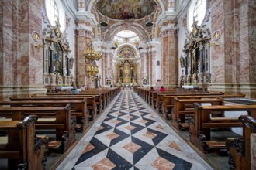
[[[88,77],[92,76],[92,78],[99,73],[98,66],[93,64],[95,60],[99,60],[102,58],[101,53],[95,52],[92,47],[92,42],[88,45],[88,48],[85,50],[85,73]]]

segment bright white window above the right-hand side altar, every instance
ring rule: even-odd
[[[187,24],[189,32],[192,31],[192,24],[194,20],[197,22],[197,26],[201,26],[203,19],[206,16],[206,0],[192,0],[187,17]]]

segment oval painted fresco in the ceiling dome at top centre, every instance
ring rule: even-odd
[[[141,19],[152,14],[157,4],[153,0],[100,0],[96,8],[110,19]]]

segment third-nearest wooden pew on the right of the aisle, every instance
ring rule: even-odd
[[[181,97],[182,98],[182,97]],[[189,128],[189,124],[185,123],[185,115],[194,115],[194,103],[223,105],[223,99],[220,98],[198,98],[198,99],[181,99],[175,97],[175,107],[171,112],[171,125],[178,131]]]

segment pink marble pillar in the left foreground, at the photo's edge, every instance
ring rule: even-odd
[[[39,0],[2,0],[0,5],[0,97],[29,97],[43,88],[43,53],[32,34],[42,32]]]

